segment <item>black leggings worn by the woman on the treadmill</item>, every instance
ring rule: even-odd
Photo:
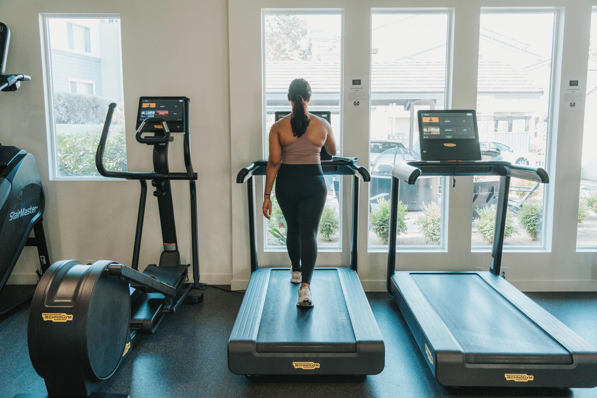
[[[282,163],[276,178],[276,199],[286,220],[286,247],[294,271],[311,283],[317,260],[317,231],[328,189],[321,165]]]

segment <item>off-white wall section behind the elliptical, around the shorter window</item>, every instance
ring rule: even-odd
[[[141,11],[142,10],[142,11]],[[47,197],[44,215],[51,260],[110,259],[130,264],[139,203],[135,181],[48,181],[47,126],[42,78],[39,13],[119,13],[127,121],[128,167],[151,170],[149,147],[134,139],[141,95],[186,95],[190,103],[192,157],[198,181],[201,280],[229,283],[230,124],[227,2],[61,0],[0,5],[11,29],[7,72],[32,81],[0,95],[0,141],[33,153]],[[147,40],[147,35],[151,39]],[[10,115],[10,117],[5,117]],[[184,169],[180,140],[171,146],[174,171]],[[189,189],[175,181],[174,206],[183,260],[190,262]],[[156,263],[162,250],[156,200],[147,197],[140,266]],[[13,282],[33,277],[35,249],[25,248]]]

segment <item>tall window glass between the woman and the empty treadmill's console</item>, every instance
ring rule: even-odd
[[[394,163],[420,159],[417,110],[445,107],[449,20],[445,12],[376,11],[371,17],[370,248],[387,245]],[[401,183],[399,247],[444,245],[443,180],[421,177],[415,185]]]

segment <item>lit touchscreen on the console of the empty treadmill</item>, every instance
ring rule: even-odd
[[[473,113],[430,112],[420,113],[423,139],[442,140],[476,138],[475,115]]]

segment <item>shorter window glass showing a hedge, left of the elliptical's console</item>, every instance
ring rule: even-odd
[[[96,150],[111,102],[119,106],[104,162],[112,170],[127,170],[119,21],[54,14],[44,17],[53,179],[100,177]]]

